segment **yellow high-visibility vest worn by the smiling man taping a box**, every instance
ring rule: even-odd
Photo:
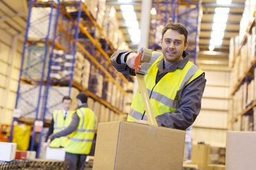
[[[185,86],[204,73],[192,62],[187,62],[183,69],[169,72],[156,84],[156,75],[158,73],[158,63],[163,55],[149,68],[149,73],[145,75],[144,80],[150,97],[150,103],[155,117],[166,112],[175,112]],[[131,103],[131,110],[127,121],[136,121],[142,119],[145,111],[142,97],[137,90]],[[143,117],[147,120],[147,116]]]

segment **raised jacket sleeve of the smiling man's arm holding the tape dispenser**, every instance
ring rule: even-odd
[[[116,51],[115,53],[113,53],[112,56],[110,57],[110,62],[112,64],[112,66],[114,66],[115,69],[117,71],[119,71],[120,73],[127,73],[129,75],[135,75],[134,69],[129,68],[129,66],[127,66],[127,64],[121,64],[122,63],[121,62],[122,54],[126,53],[125,56],[127,56],[131,52],[134,52],[134,51],[120,49],[120,50]]]

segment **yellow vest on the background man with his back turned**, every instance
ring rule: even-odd
[[[79,124],[76,131],[67,136],[65,151],[72,154],[89,154],[94,139],[96,116],[90,108],[76,110]]]

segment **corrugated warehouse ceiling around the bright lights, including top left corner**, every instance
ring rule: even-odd
[[[164,0],[164,2],[166,1],[170,0]],[[203,14],[200,25],[198,64],[227,65],[229,41],[231,37],[239,34],[239,22],[242,18],[242,12],[244,11],[244,1],[245,0],[232,0],[232,3],[229,5],[221,5],[217,4],[216,0],[202,0]],[[125,36],[125,40],[131,49],[136,50],[138,43],[131,41],[131,35],[128,32],[127,25],[125,25],[125,20],[122,16],[120,5],[134,5],[134,11],[136,12],[138,24],[140,25],[142,0],[130,0],[128,3],[125,3],[124,0],[106,0],[106,3],[107,5],[113,5],[116,9],[116,16],[119,21],[120,29]],[[224,32],[222,45],[215,46],[213,52],[209,52],[213,17],[215,14],[215,8],[218,7],[229,8],[228,20],[226,21],[226,29]],[[0,29],[6,30],[6,32],[11,35],[24,34],[27,12],[28,3],[26,0],[0,0]]]

